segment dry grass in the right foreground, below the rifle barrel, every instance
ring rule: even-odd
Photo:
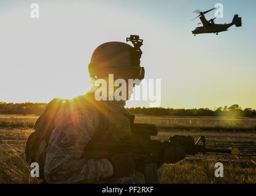
[[[244,167],[239,162],[223,163],[223,178],[216,178],[214,165],[218,160],[187,161],[177,164],[164,164],[159,170],[160,183],[177,184],[230,184],[230,183],[256,183],[256,168]]]

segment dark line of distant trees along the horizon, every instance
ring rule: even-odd
[[[20,115],[41,115],[46,107],[45,103],[6,103],[0,102],[1,114],[20,114]],[[193,109],[174,109],[174,108],[127,108],[130,113],[135,115],[152,115],[152,116],[234,116],[234,117],[256,117],[256,110],[245,108],[244,110],[238,104],[230,107],[219,107],[216,110],[209,108]]]

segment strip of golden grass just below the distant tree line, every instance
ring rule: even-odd
[[[39,116],[0,115],[0,128],[31,129]],[[153,123],[171,130],[238,130],[256,132],[256,118],[136,116],[136,123]]]

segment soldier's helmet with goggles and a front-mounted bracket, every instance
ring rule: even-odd
[[[131,36],[134,47],[123,42],[106,42],[93,51],[88,71],[92,79],[106,78],[114,74],[114,79],[139,79],[144,78],[144,67],[141,67],[140,58],[142,45],[139,36]]]

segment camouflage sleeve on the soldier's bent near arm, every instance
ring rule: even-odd
[[[98,121],[96,110],[87,110],[82,115],[76,111],[58,113],[45,160],[47,183],[90,183],[113,175],[114,169],[107,159],[80,159]]]

